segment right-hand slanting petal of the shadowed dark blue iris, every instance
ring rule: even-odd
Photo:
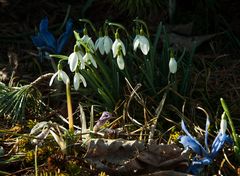
[[[57,50],[56,52],[61,53],[64,45],[67,43],[69,37],[73,34],[73,22],[71,19],[67,21],[66,31],[59,37],[57,41]]]

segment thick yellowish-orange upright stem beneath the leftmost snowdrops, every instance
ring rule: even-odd
[[[73,113],[72,113],[72,99],[71,99],[71,86],[70,81],[66,83],[66,96],[67,96],[67,109],[68,109],[68,125],[69,131],[73,132]]]

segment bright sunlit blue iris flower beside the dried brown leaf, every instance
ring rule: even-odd
[[[184,136],[180,136],[180,143],[183,144],[185,149],[192,149],[197,154],[193,158],[193,161],[189,167],[189,172],[192,174],[199,174],[204,166],[213,162],[213,159],[217,156],[219,150],[223,147],[225,142],[232,143],[231,138],[225,134],[227,121],[222,118],[221,128],[212,143],[211,150],[208,147],[208,128],[210,125],[209,119],[206,120],[205,127],[205,147],[203,147],[187,130],[184,122],[181,122],[182,130],[186,133]]]

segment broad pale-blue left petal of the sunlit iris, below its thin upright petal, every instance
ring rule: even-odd
[[[199,143],[197,142],[197,140],[189,137],[189,136],[180,136],[180,143],[183,144],[184,148],[191,148],[195,153],[203,156],[203,148],[201,145],[199,145]]]

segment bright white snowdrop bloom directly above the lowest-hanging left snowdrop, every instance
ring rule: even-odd
[[[80,52],[71,53],[70,56],[68,57],[68,64],[69,64],[71,72],[74,72],[76,70],[79,62],[81,64],[81,69],[84,69],[85,64],[84,64],[81,53]]]

